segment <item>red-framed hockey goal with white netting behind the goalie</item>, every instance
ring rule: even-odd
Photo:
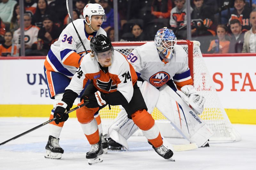
[[[128,56],[134,48],[147,42],[148,41],[112,42],[112,45],[115,50],[121,52],[125,56]],[[214,132],[214,135],[210,138],[210,140],[222,142],[240,141],[240,135],[232,127],[224,108],[221,106],[212,78],[210,77],[200,51],[200,42],[178,40],[177,44],[181,45],[187,52],[188,65],[190,68],[191,77],[194,81],[194,87],[198,93],[203,95],[206,99],[204,111],[199,116]],[[119,106],[111,106],[111,110],[109,110],[107,106],[100,110],[102,127],[105,133],[108,131],[108,127],[113,123],[119,112]],[[164,137],[181,137],[180,135],[177,136],[177,132],[176,135],[175,132],[172,132],[174,128],[172,128],[171,123],[156,107],[151,115],[156,120],[157,126]],[[162,132],[161,129],[164,129],[165,132]],[[166,129],[168,129],[167,132]]]

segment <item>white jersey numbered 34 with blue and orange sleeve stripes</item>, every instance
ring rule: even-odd
[[[87,52],[90,52],[90,40],[92,37],[99,34],[107,36],[107,33],[102,28],[100,28],[99,31],[94,32],[93,35],[86,33],[84,19],[76,19],[73,23],[76,26],[76,30],[78,31]],[[72,23],[69,23],[60,34],[58,41],[55,41],[51,45],[44,66],[47,71],[60,72],[67,77],[72,78],[80,65],[79,63],[81,62],[83,53],[85,53],[85,51],[76,34],[74,26]]]

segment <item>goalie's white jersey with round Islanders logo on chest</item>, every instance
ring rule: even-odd
[[[174,46],[174,55],[168,63],[161,60],[154,42],[135,48],[127,59],[138,76],[157,88],[171,78],[178,88],[193,84],[188,68],[188,56],[180,45]]]

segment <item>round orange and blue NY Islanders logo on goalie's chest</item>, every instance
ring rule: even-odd
[[[155,87],[162,87],[170,80],[170,75],[164,71],[159,71],[149,78],[149,83]]]

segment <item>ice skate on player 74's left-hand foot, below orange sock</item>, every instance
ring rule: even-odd
[[[97,144],[92,144],[89,152],[86,153],[86,159],[88,159],[88,164],[92,165],[103,161],[103,149],[101,144],[101,134],[100,140]]]

